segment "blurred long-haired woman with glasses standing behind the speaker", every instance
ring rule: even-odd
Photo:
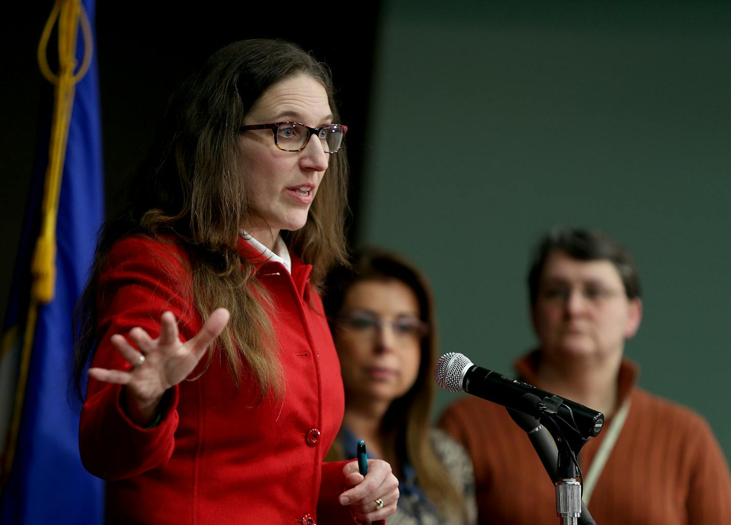
[[[363,439],[385,459],[401,497],[389,525],[472,524],[471,464],[432,428],[436,322],[431,290],[413,265],[378,249],[327,277],[325,311],[345,387],[343,427],[328,458],[353,458]]]

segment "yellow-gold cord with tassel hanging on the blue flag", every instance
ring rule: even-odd
[[[48,66],[48,41],[53,26],[58,20],[58,75]],[[79,25],[84,40],[84,58],[81,67],[75,72],[76,36]],[[31,300],[26,317],[23,350],[20,356],[20,371],[15,393],[15,405],[8,430],[5,446],[2,486],[10,477],[15,448],[20,431],[20,415],[23,412],[23,399],[28,383],[31,363],[31,350],[40,305],[53,299],[56,289],[56,221],[58,219],[58,196],[61,193],[61,177],[64,173],[64,160],[69,137],[69,123],[74,105],[75,84],[86,75],[94,51],[91,24],[81,0],[56,0],[38,43],[38,64],[43,76],[56,86],[54,92],[53,120],[51,122],[50,143],[48,147],[48,167],[45,174],[45,187],[41,208],[41,227],[31,262]],[[4,341],[3,355],[14,341]]]

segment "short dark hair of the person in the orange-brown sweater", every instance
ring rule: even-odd
[[[582,228],[556,227],[537,243],[528,272],[531,306],[536,303],[543,266],[551,252],[565,252],[576,260],[608,260],[617,268],[624,292],[630,299],[640,298],[640,273],[632,254],[601,232]]]

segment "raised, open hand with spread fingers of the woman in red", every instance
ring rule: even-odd
[[[154,419],[165,391],[189,376],[208,346],[226,328],[229,317],[227,309],[214,310],[200,332],[183,343],[178,336],[175,315],[166,311],[160,317],[157,339],[152,339],[140,327],[129,331],[129,339],[137,348],[118,333],[112,336],[113,346],[132,369],[91,368],[89,376],[97,381],[124,385],[126,412],[135,423],[145,426]]]

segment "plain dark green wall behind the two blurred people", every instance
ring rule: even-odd
[[[731,457],[731,3],[607,4],[386,2],[358,238],[425,270],[442,352],[510,375],[537,236],[605,231],[643,279],[640,385]]]

